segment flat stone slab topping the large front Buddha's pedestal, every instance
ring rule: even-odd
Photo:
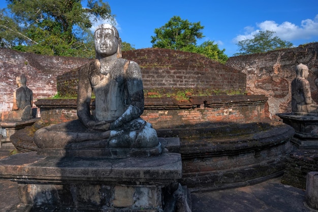
[[[0,178],[15,181],[126,181],[162,184],[182,177],[181,156],[176,153],[148,158],[44,157],[36,152],[0,161]]]

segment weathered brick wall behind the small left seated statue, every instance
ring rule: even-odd
[[[26,85],[33,91],[34,101],[52,97],[57,93],[56,77],[69,72],[88,59],[47,56],[34,53],[0,49],[0,112],[12,108],[13,92],[17,88],[16,77],[26,76]]]

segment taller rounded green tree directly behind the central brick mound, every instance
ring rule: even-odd
[[[151,36],[152,47],[180,50],[188,45],[196,45],[197,39],[203,38],[200,21],[191,23],[173,16],[168,23],[154,29],[155,36]]]

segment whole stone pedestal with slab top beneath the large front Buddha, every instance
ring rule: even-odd
[[[18,182],[18,211],[162,211],[163,188],[181,176],[176,153],[87,158],[30,152],[0,160],[0,178]]]

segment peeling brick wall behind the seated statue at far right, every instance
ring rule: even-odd
[[[308,81],[311,96],[318,102],[315,79],[318,74],[318,43],[297,48],[281,49],[267,53],[230,57],[227,66],[246,74],[246,92],[268,97],[270,116],[291,112],[291,82],[296,77],[295,68],[299,63],[309,68]]]

